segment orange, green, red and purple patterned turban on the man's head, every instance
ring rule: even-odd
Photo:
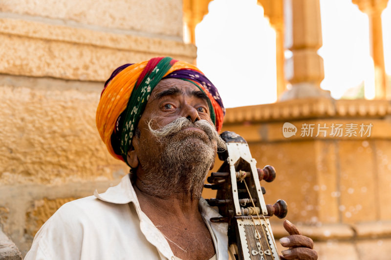
[[[160,80],[174,78],[197,86],[209,98],[209,111],[217,132],[225,109],[216,87],[194,65],[170,57],[125,64],[105,83],[96,111],[96,126],[109,153],[127,162],[127,153],[153,88]]]

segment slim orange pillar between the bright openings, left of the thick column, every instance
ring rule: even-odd
[[[283,0],[258,0],[258,4],[262,5],[264,16],[269,19],[270,25],[276,31],[277,97],[280,97],[286,89]]]

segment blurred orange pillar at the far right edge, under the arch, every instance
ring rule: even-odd
[[[375,98],[390,99],[387,75],[384,65],[383,31],[381,14],[387,7],[388,0],[352,0],[369,17],[370,56],[375,66]]]

